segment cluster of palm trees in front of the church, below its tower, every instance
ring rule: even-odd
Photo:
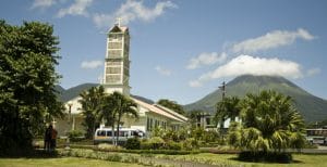
[[[119,92],[107,94],[102,86],[92,87],[80,95],[78,102],[82,104],[84,115],[83,125],[89,139],[101,121],[112,127],[112,138],[114,138],[113,129],[117,127],[117,133],[119,133],[123,116],[138,118],[137,104],[132,99]],[[117,141],[119,141],[119,136],[116,136],[114,144]]]

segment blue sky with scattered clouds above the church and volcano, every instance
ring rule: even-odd
[[[194,102],[242,74],[281,75],[327,99],[326,0],[2,0],[0,18],[47,22],[65,89],[99,82],[106,31],[130,27],[131,92]]]

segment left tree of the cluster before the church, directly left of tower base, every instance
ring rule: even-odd
[[[99,126],[99,113],[102,111],[105,98],[105,89],[100,87],[92,87],[87,91],[83,91],[78,102],[82,105],[82,114],[84,115],[83,125],[86,128],[86,138],[93,139],[96,127]]]

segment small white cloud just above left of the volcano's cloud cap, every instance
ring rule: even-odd
[[[201,53],[196,57],[192,57],[186,66],[187,69],[195,69],[205,65],[213,65],[216,63],[222,63],[227,59],[227,54],[222,52],[218,55],[217,52]]]

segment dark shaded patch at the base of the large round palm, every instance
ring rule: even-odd
[[[292,155],[282,152],[244,151],[239,154],[239,159],[244,162],[291,163]]]

